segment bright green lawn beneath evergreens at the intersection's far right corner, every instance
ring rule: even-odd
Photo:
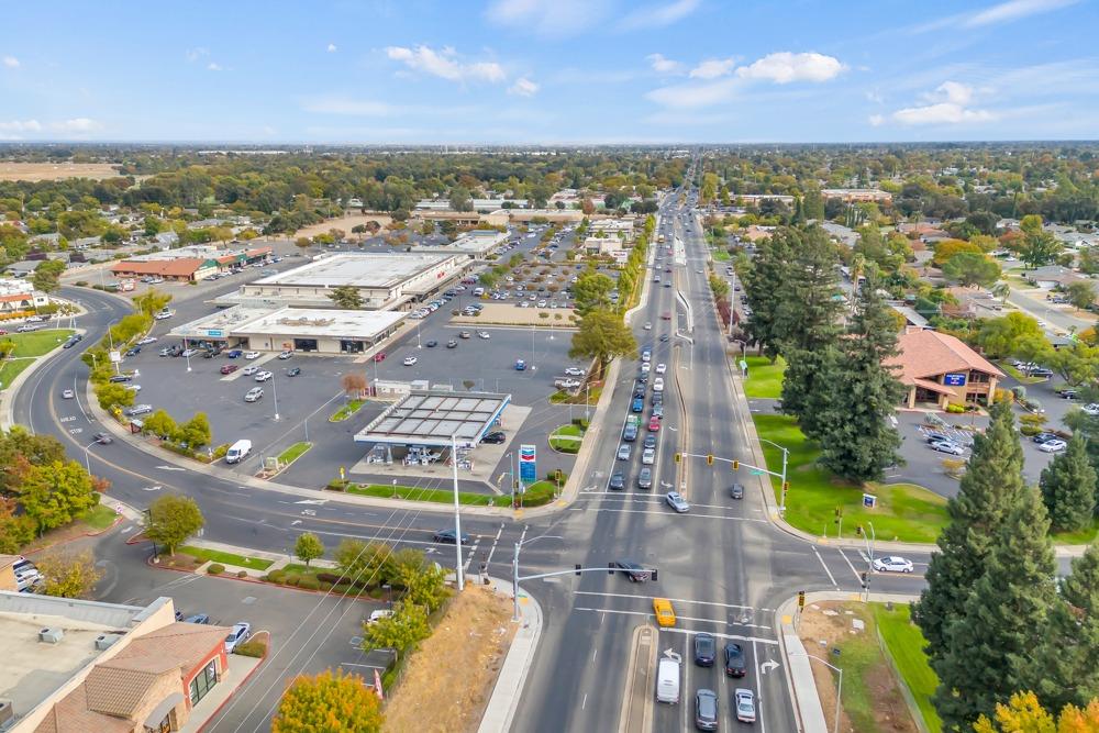
[[[863,508],[863,487],[840,482],[832,475],[814,466],[819,454],[815,443],[806,440],[793,418],[787,415],[753,415],[759,437],[774,441],[790,451],[787,479],[790,490],[786,496],[786,521],[811,534],[836,536],[835,509],[843,512],[843,536],[856,537],[859,524],[874,524],[878,540],[901,542],[934,542],[946,525],[946,500],[913,484],[877,485],[866,487],[867,493],[878,498],[875,509]],[[767,467],[782,468],[781,452],[763,444]],[[744,469],[742,469],[744,470]],[[781,485],[771,477],[776,500],[780,499]]]

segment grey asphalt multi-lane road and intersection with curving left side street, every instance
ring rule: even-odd
[[[632,319],[639,343],[653,348],[653,364],[667,365],[653,488],[640,490],[636,477],[655,374],[650,375],[633,456],[629,462],[617,459],[620,426],[630,414],[640,368],[639,362],[625,360],[606,415],[606,440],[592,446],[576,501],[559,512],[526,521],[463,518],[463,531],[474,535],[476,543],[466,562],[486,562],[495,576],[510,577],[511,548],[519,541],[524,542],[522,575],[574,564],[606,567],[615,559],[659,570],[656,582],[631,584],[621,575],[587,573],[529,584],[526,590],[543,608],[545,626],[514,719],[517,731],[618,728],[624,706],[640,704],[625,695],[628,666],[634,630],[653,623],[653,597],[671,599],[675,604],[678,623],[658,632],[657,647],[677,649],[685,670],[681,703],[655,706],[654,731],[691,728],[691,702],[702,687],[718,693],[724,730],[736,725],[730,702],[734,687],[755,691],[761,731],[796,730],[774,628],[775,609],[801,589],[855,591],[861,587],[866,558],[859,551],[817,546],[768,520],[763,491],[769,485],[762,477],[745,470],[733,474],[725,464],[708,467],[704,462],[676,464],[674,459],[682,451],[728,458],[751,456],[750,417],[737,407],[743,402],[737,402],[733,391],[728,342],[709,295],[706,243],[697,222],[687,225],[692,214],[680,215],[689,212],[692,196],[688,191],[682,204],[669,196],[662,208],[660,231],[667,244],[654,244],[646,299]],[[653,281],[655,275],[660,276],[660,284]],[[664,287],[667,278],[671,278],[670,288]],[[84,344],[96,343],[107,324],[126,312],[124,302],[100,292],[66,289],[63,295],[88,309],[80,320],[88,332]],[[684,301],[690,304],[689,318]],[[644,329],[646,322],[652,330]],[[662,334],[668,341],[660,341]],[[15,422],[57,435],[70,455],[81,462],[87,457],[93,473],[112,481],[112,496],[136,508],[163,491],[195,497],[207,518],[208,540],[285,552],[300,532],[311,531],[330,546],[354,536],[430,547],[432,532],[449,521],[443,510],[428,504],[409,511],[338,501],[302,503],[293,495],[180,470],[121,441],[88,448],[91,434],[100,427],[85,404],[87,368],[78,357],[77,349],[64,351],[32,375],[13,403]],[[73,387],[79,401],[63,401],[60,391]],[[608,488],[615,470],[625,473],[624,490]],[[729,497],[734,480],[747,488],[743,500]],[[689,499],[690,512],[677,514],[664,503],[664,493],[676,487]],[[878,576],[874,580],[877,590],[918,591],[928,557],[908,556],[917,564],[917,573]],[[442,562],[451,555],[437,557]],[[724,640],[744,647],[748,674],[743,680],[728,680],[720,662],[714,668],[691,664],[691,635],[701,631],[718,637],[719,647]]]

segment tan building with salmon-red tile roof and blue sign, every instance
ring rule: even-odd
[[[961,340],[937,331],[909,327],[897,340],[899,353],[886,366],[908,388],[904,403],[991,404],[1003,373]]]

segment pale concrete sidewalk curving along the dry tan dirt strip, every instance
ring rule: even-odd
[[[513,586],[508,580],[491,578],[492,588],[497,592],[512,590]],[[520,602],[519,612],[522,617],[521,625],[515,631],[515,636],[511,641],[511,648],[504,657],[492,688],[492,697],[489,698],[481,715],[481,723],[478,733],[507,733],[511,730],[511,723],[515,718],[519,708],[519,700],[526,684],[526,675],[534,664],[534,655],[539,648],[539,640],[542,637],[542,607],[533,596],[519,589],[520,599],[526,599],[526,603]]]

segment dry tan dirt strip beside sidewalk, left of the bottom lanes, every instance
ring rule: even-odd
[[[382,730],[476,731],[513,634],[508,597],[467,586],[409,660]],[[440,659],[460,659],[460,674],[440,674]]]

